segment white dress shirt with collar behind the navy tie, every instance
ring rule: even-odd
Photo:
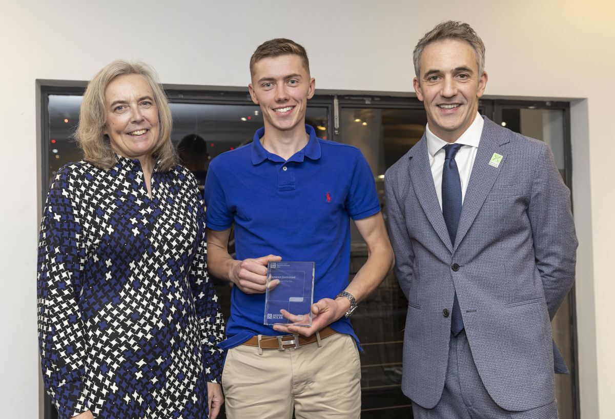
[[[470,125],[466,132],[461,134],[461,137],[455,142],[457,144],[462,144],[457,154],[455,154],[455,162],[457,163],[459,179],[461,180],[462,204],[466,198],[467,183],[470,181],[470,174],[472,173],[472,166],[474,166],[474,159],[476,158],[478,143],[480,142],[480,135],[483,133],[484,124],[485,121],[483,121],[483,118],[477,113],[472,125]],[[427,124],[425,135],[427,137],[427,150],[429,151],[429,166],[431,167],[431,174],[434,177],[435,193],[438,194],[438,202],[440,202],[440,209],[442,209],[442,167],[444,166],[444,157],[446,154],[444,146],[450,143],[436,137],[436,135],[429,130],[429,124]]]

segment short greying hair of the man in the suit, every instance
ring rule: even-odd
[[[443,41],[444,39],[458,39],[459,41],[466,41],[476,55],[476,63],[478,66],[478,77],[483,75],[485,71],[485,44],[480,36],[472,29],[472,26],[463,22],[456,22],[454,20],[448,20],[446,22],[438,23],[434,29],[427,32],[423,38],[421,38],[416,44],[413,53],[413,62],[415,64],[416,78],[420,79],[421,69],[419,64],[421,62],[421,55],[423,55],[424,49],[432,42]]]

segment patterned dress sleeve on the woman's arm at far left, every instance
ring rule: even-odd
[[[85,260],[84,231],[64,167],[50,186],[38,247],[38,335],[42,378],[60,418],[89,410],[85,390],[84,324],[79,309]]]

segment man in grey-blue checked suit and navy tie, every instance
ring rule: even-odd
[[[574,281],[570,193],[550,148],[478,114],[485,46],[443,22],[414,51],[423,138],[385,175],[408,298],[403,392],[415,418],[555,418],[568,372],[550,319]]]

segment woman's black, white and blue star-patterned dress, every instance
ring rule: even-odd
[[[60,418],[207,418],[224,323],[194,177],[138,160],[58,171],[39,237],[42,375]]]

